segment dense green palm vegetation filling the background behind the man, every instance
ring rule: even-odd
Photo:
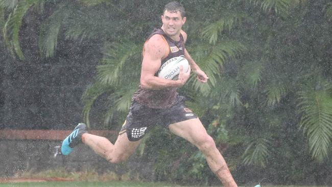
[[[87,87],[83,118],[107,97],[105,126],[120,126],[137,89],[140,52],[168,1],[0,1],[2,42],[26,61],[22,20],[39,17],[39,60],[59,42],[100,43],[98,76]],[[332,3],[328,0],[180,1],[188,52],[209,76],[179,91],[215,138],[240,182],[332,182]],[[2,52],[3,54],[5,52]],[[144,152],[143,152],[144,151]],[[203,156],[156,128],[137,154],[160,180],[215,183]]]

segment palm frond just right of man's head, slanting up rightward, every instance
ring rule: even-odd
[[[221,32],[224,30],[230,31],[235,25],[241,24],[242,20],[248,16],[241,13],[227,12],[227,14],[224,13],[221,17],[221,19],[203,29],[202,36],[207,38],[211,44],[215,44],[218,41]]]

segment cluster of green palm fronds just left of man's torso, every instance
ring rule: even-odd
[[[105,113],[104,123],[106,126],[111,119],[123,116],[117,116],[117,112],[126,113],[128,111],[131,97],[137,89],[139,81],[140,63],[136,62],[139,61],[140,51],[141,46],[130,41],[106,43],[104,57],[97,66],[97,80],[83,95],[85,103],[83,117],[88,126],[90,126],[90,110],[101,95],[109,95],[109,109]],[[127,73],[124,74],[124,72]]]

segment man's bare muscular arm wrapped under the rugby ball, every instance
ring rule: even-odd
[[[140,85],[144,89],[165,89],[168,87],[180,87],[185,84],[190,76],[180,67],[179,80],[167,80],[154,76],[159,70],[161,59],[168,55],[168,45],[163,38],[156,34],[152,36],[144,46],[144,56],[140,73]],[[182,69],[182,70],[181,70]]]

